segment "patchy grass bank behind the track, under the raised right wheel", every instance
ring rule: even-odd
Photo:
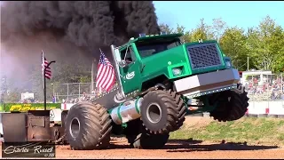
[[[183,127],[170,133],[172,140],[233,141],[284,145],[284,119],[243,117],[219,123],[208,117],[188,116]]]

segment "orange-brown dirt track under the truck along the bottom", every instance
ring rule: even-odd
[[[212,144],[197,140],[169,140],[169,143],[158,150],[130,148],[127,140],[116,138],[114,145],[107,150],[74,151],[67,146],[56,150],[58,158],[283,158],[284,148],[273,146],[243,146],[237,144]]]

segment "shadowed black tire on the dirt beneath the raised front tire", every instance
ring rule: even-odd
[[[169,140],[169,133],[151,134],[146,132],[142,121],[137,119],[130,121],[125,129],[125,134],[130,146],[142,149],[159,149],[162,148]]]

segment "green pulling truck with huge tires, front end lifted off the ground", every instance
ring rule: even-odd
[[[111,134],[125,135],[133,148],[154,149],[166,144],[185,115],[209,112],[220,122],[244,116],[247,92],[217,41],[185,44],[181,36],[140,34],[112,44],[118,84],[63,111],[59,135],[76,150],[108,148]]]

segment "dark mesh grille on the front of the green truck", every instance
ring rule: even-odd
[[[221,65],[221,58],[216,44],[196,44],[187,47],[192,69],[208,68]]]

